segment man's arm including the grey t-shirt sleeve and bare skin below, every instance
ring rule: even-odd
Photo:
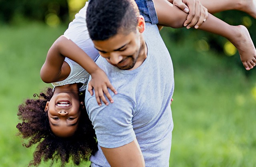
[[[86,93],[86,109],[98,144],[111,167],[144,167],[144,158],[132,125],[136,104],[120,93],[113,99],[115,103],[98,106],[95,98]]]

